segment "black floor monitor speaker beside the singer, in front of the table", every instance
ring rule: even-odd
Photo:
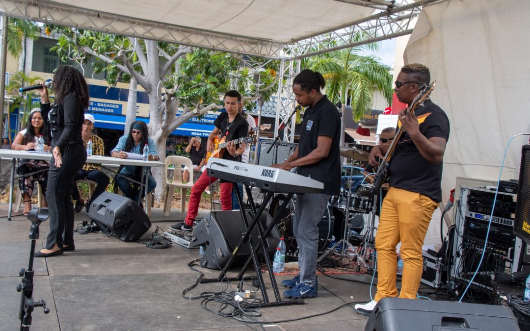
[[[151,221],[136,202],[110,192],[92,201],[89,216],[102,230],[112,231],[123,241],[136,241],[151,228]]]

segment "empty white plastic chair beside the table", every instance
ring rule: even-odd
[[[185,210],[187,190],[193,187],[193,163],[191,163],[191,160],[187,157],[175,155],[166,157],[164,163],[164,177],[166,178],[164,212],[167,217],[171,210],[171,200],[173,200],[173,192],[175,192],[175,189],[180,189],[180,211],[184,212]],[[173,165],[174,167],[172,180],[167,178],[167,168],[170,165]],[[190,169],[190,181],[188,183],[182,182],[183,166],[187,166],[188,169]]]

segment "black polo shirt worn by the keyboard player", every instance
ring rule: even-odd
[[[340,114],[335,105],[323,96],[315,105],[308,107],[302,121],[298,158],[311,153],[320,136],[333,138],[328,157],[311,165],[301,166],[298,173],[324,183],[325,194],[340,191]]]

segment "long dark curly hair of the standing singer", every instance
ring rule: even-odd
[[[60,102],[70,93],[77,95],[84,108],[89,106],[89,87],[83,74],[74,67],[60,66],[55,70],[53,88],[55,101]]]

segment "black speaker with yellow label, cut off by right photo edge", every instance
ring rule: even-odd
[[[523,146],[517,186],[514,234],[530,244],[530,145]]]

